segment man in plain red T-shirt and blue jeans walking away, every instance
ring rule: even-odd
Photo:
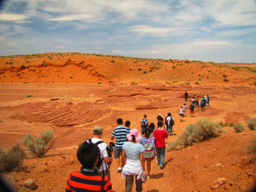
[[[158,164],[160,165],[161,169],[164,169],[164,155],[165,155],[165,139],[168,138],[167,132],[162,129],[163,122],[159,121],[157,123],[158,128],[154,131],[153,133],[153,138],[156,140],[155,141],[155,146],[156,146],[156,156],[157,156],[157,161]]]

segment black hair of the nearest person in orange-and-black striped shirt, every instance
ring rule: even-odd
[[[97,145],[83,142],[77,149],[77,159],[84,168],[91,169],[99,156],[100,149]]]

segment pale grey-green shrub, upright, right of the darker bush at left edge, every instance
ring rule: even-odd
[[[48,129],[41,132],[41,136],[34,138],[30,133],[27,133],[25,138],[21,140],[21,143],[26,145],[27,150],[34,156],[41,157],[53,146],[53,132]]]

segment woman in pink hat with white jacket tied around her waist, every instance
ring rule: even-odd
[[[125,192],[131,192],[133,186],[133,179],[135,175],[136,191],[142,191],[141,174],[145,171],[144,161],[144,147],[137,143],[141,138],[137,129],[131,129],[127,135],[129,142],[123,145],[122,158],[125,165],[122,172],[122,177],[125,177]]]

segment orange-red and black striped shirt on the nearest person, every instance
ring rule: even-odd
[[[66,192],[100,192],[103,176],[92,171],[94,170],[72,172],[68,177]],[[104,192],[112,192],[111,182],[107,176],[104,177]]]

